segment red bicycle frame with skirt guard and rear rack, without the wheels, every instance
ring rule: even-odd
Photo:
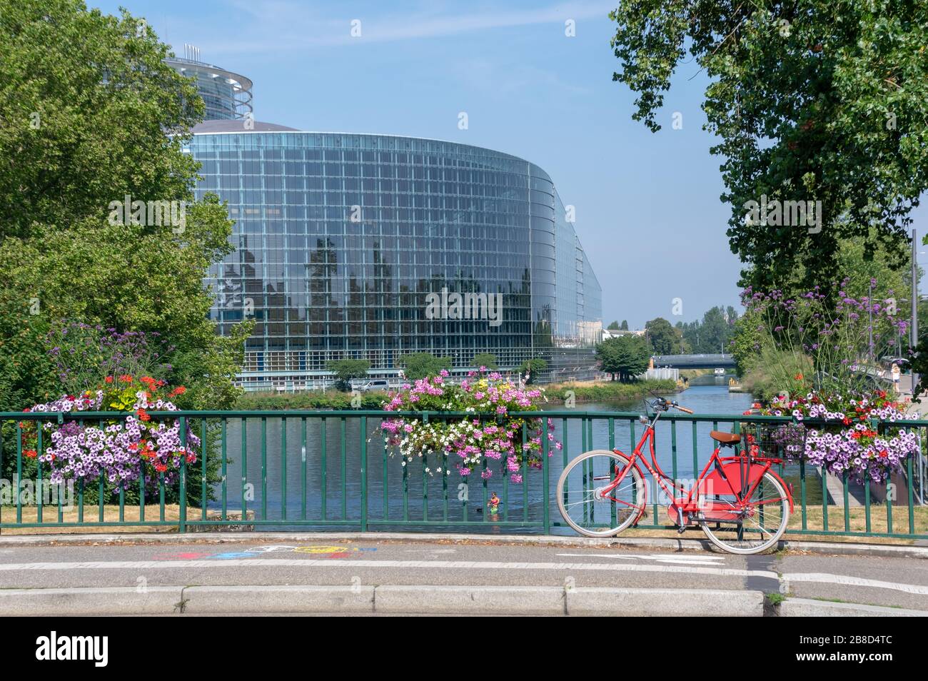
[[[632,452],[631,456],[626,456],[621,450],[614,449],[612,450],[616,454],[620,454],[628,458],[628,464],[625,466],[621,472],[618,471],[618,466],[616,466],[616,472],[619,473],[607,487],[601,491],[601,495],[609,495],[612,493],[616,487],[618,487],[625,480],[625,476],[628,474],[628,471],[633,467],[638,467],[638,459],[644,464],[644,467],[651,471],[651,476],[654,478],[661,488],[664,490],[664,494],[667,495],[669,499],[672,499],[671,508],[677,509],[678,524],[684,520],[684,515],[689,516],[690,514],[702,513],[706,509],[706,504],[702,502],[705,495],[734,495],[735,504],[733,505],[733,510],[741,508],[741,505],[744,504],[745,500],[750,499],[751,495],[754,494],[754,490],[764,479],[764,475],[769,471],[774,463],[780,462],[780,459],[772,457],[756,457],[753,458],[748,453],[741,454],[740,456],[719,456],[722,446],[717,445],[715,450],[710,456],[709,461],[706,463],[705,467],[700,472],[699,477],[696,479],[695,484],[693,484],[690,490],[687,490],[683,486],[678,486],[677,481],[671,479],[669,475],[664,472],[664,469],[661,468],[661,465],[657,462],[657,455],[654,451],[654,426],[657,424],[658,419],[661,416],[660,411],[657,411],[654,414],[654,417],[650,419],[647,423],[647,428],[644,433],[641,435],[641,439],[638,441],[638,445],[635,447],[635,450]],[[642,452],[644,443],[649,443],[649,449],[651,452],[651,462],[649,463],[648,457],[645,456]],[[738,480],[733,480],[732,475],[729,475],[726,469],[731,469],[731,464],[739,464],[739,475]],[[714,469],[712,473],[709,473],[710,469]],[[641,473],[640,467],[638,467],[638,472]],[[733,471],[732,471],[733,472]],[[776,472],[773,475],[777,475]],[[641,474],[642,479],[644,475]],[[779,480],[779,476],[778,480]],[[670,485],[667,484],[667,481],[670,482]],[[704,486],[706,484],[711,484],[714,482],[720,482],[722,489],[712,490],[706,493]],[[748,482],[747,489],[745,489],[744,482]],[[782,481],[780,481],[782,482]],[[671,491],[671,488],[673,491]],[[786,491],[787,498],[790,502],[790,511],[793,510],[793,495],[789,493],[789,488],[783,484],[783,489]],[[682,493],[677,496],[677,493]],[[645,489],[645,495],[647,495],[647,487]],[[684,496],[685,495],[685,496]],[[617,504],[624,504],[628,507],[638,506],[635,503],[626,502],[622,499],[616,499],[612,496],[609,497],[612,501]],[[767,504],[771,502],[780,501],[780,499],[769,499],[766,501],[761,501],[760,504]],[[641,508],[638,511],[638,517],[632,523],[633,525],[638,524],[641,516],[644,514],[644,509],[647,508],[648,501],[647,496],[644,500],[644,503],[641,504]],[[724,513],[724,512],[723,512]],[[733,512],[725,513],[728,516],[735,516]],[[736,520],[735,518],[703,518],[702,520],[714,520],[714,521],[732,521]]]

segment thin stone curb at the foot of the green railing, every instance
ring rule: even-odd
[[[664,548],[675,551],[714,549],[707,539],[673,539],[664,537],[591,537],[555,536],[546,534],[452,534],[452,533],[380,533],[380,532],[250,532],[250,533],[135,533],[135,534],[0,534],[0,546],[45,546],[60,544],[241,544],[264,540],[294,541],[367,541],[406,543],[482,543],[521,546],[586,546],[612,548],[619,546]],[[781,548],[832,556],[879,556],[928,559],[928,546],[894,546],[852,544],[844,542],[798,542],[786,540]]]

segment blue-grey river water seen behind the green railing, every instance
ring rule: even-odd
[[[717,385],[694,386],[689,390],[665,395],[677,400],[697,414],[719,416],[741,415],[751,403],[751,396],[744,393],[729,393],[725,379]],[[584,412],[634,412],[641,413],[641,402],[635,404],[577,403],[578,411]],[[562,405],[551,409],[564,410]],[[243,482],[246,507],[253,511],[255,520],[278,520],[279,527],[286,529],[321,528],[325,525],[356,529],[361,518],[361,442],[362,433],[358,418],[327,418],[325,424],[325,454],[323,454],[323,424],[318,418],[305,419],[305,448],[303,448],[303,419],[268,417],[250,418],[247,423],[247,456],[242,471],[242,425],[241,419],[230,419],[226,433],[226,510],[238,516],[241,508]],[[592,441],[586,450],[608,449],[610,445],[609,419],[594,418],[589,421]],[[529,470],[523,484],[504,480],[499,462],[491,462],[493,475],[483,480],[471,475],[465,481],[457,470],[446,476],[426,473],[414,461],[404,468],[397,456],[384,452],[380,434],[376,430],[376,419],[367,419],[367,433],[363,439],[367,445],[367,520],[371,529],[438,531],[422,520],[449,520],[455,523],[452,530],[470,532],[496,529],[495,523],[487,521],[483,509],[491,493],[502,499],[497,520],[510,523],[529,523],[541,520],[544,499],[543,474],[541,470]],[[730,423],[718,424],[722,430],[730,430]],[[612,433],[614,446],[628,452],[631,446],[631,427],[640,437],[641,426],[630,424],[627,419],[613,418]],[[262,430],[266,431],[266,445],[262,456]],[[549,461],[549,492],[554,495],[555,485],[561,474],[564,461],[585,451],[581,434],[581,421],[568,419],[566,436],[564,421],[555,418],[555,437],[563,443],[563,450],[552,450]],[[283,430],[286,429],[286,447],[282,447]],[[709,430],[711,422],[699,423],[695,429],[696,457],[699,465],[712,453]],[[587,430],[589,431],[589,430]],[[669,420],[660,423],[657,430],[657,456],[661,467],[678,479],[690,479],[693,474],[694,430],[690,421],[678,421],[676,426],[676,467],[673,456],[673,430]],[[286,453],[286,457],[284,456]],[[264,464],[263,464],[264,460]],[[262,474],[264,471],[264,475]],[[386,498],[384,498],[386,491]],[[211,516],[222,508],[222,489],[214,490],[216,500],[209,504]],[[239,516],[240,517],[240,516]],[[552,520],[558,518],[557,507],[551,504]],[[291,522],[292,521],[292,522]],[[461,521],[480,522],[481,525],[466,525]],[[460,524],[458,524],[460,523]],[[441,531],[446,531],[442,527]],[[509,530],[525,532],[540,531],[538,527],[511,524]]]

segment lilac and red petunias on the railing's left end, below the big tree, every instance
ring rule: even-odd
[[[180,421],[153,421],[148,411],[176,411],[171,399],[186,392],[178,386],[168,392],[165,382],[129,374],[107,377],[96,390],[64,395],[54,402],[24,410],[38,412],[132,412],[125,418],[100,419],[95,425],[68,420],[63,425],[41,425],[44,451],[37,452],[35,422],[22,422],[23,454],[51,469],[51,482],[97,481],[104,476],[116,489],[126,489],[144,475],[147,489],[158,482],[177,480],[183,461],[197,460],[200,439],[187,430],[187,446],[181,444]]]

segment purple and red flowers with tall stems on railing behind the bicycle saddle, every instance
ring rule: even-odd
[[[869,283],[875,291],[876,280]],[[765,356],[793,360],[767,367],[777,375],[780,393],[755,412],[793,417],[805,427],[798,438],[789,424],[771,433],[787,458],[805,456],[831,473],[848,471],[858,481],[883,482],[919,451],[916,430],[904,427],[918,415],[875,387],[882,374],[873,358],[895,350],[906,321],[896,316],[891,290],[883,299],[853,297],[847,285],[845,279],[835,287],[835,299],[818,288],[795,298],[780,291],[745,291],[748,314],[762,322],[757,328],[762,342],[778,351]],[[808,371],[795,369],[804,364]]]

